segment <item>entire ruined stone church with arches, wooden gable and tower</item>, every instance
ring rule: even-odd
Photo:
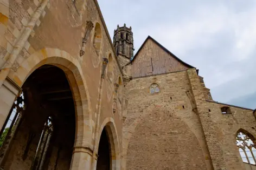
[[[0,0],[0,169],[256,169],[255,111],[150,36],[133,51],[97,0]]]

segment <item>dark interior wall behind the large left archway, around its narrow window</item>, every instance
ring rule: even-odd
[[[3,169],[30,169],[43,126],[49,116],[53,117],[53,135],[45,159],[44,169],[69,169],[75,138],[75,115],[66,122],[66,114],[74,114],[74,108],[61,108],[56,105],[42,107],[42,99],[33,87],[25,93],[26,110],[22,112],[21,123],[10,143]],[[39,110],[40,108],[40,110]],[[64,112],[66,111],[66,112]],[[65,113],[65,114],[63,114]],[[48,167],[48,168],[47,168]]]

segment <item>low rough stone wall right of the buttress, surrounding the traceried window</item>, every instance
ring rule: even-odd
[[[223,106],[229,107],[231,113],[222,114],[221,107]],[[235,138],[239,130],[245,130],[255,137],[256,120],[253,111],[210,101],[206,101],[205,110],[206,113],[204,114],[207,114],[207,117],[204,117],[202,121],[213,124],[209,128],[212,128],[216,133],[216,136],[212,138],[217,138],[216,144],[208,142],[209,148],[216,149],[214,145],[220,145],[221,149],[218,152],[223,155],[226,169],[246,169],[246,165],[242,163]]]

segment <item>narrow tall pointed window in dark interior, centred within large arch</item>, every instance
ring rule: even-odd
[[[39,144],[37,145],[37,148],[36,148],[36,154],[33,162],[33,169],[35,170],[42,169],[52,134],[53,134],[53,120],[52,120],[52,117],[48,117],[44,123]]]

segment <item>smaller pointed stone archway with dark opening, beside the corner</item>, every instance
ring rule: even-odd
[[[117,136],[116,125],[114,124],[113,118],[106,118],[100,127],[100,137],[98,139],[98,161],[97,170],[116,170],[120,169],[120,147],[119,139]],[[103,149],[104,146],[108,150]],[[108,155],[107,155],[108,154]],[[104,156],[109,159],[104,159]],[[102,159],[103,158],[103,159]]]

